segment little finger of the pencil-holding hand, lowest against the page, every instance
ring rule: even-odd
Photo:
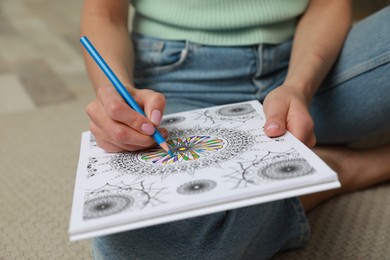
[[[137,151],[146,148],[142,146],[114,143],[110,140],[108,135],[93,122],[90,123],[90,130],[96,138],[97,146],[99,146],[106,152],[115,153],[115,152],[123,152],[123,151]]]

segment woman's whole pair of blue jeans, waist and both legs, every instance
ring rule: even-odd
[[[310,107],[319,143],[390,129],[390,8],[351,30]],[[257,99],[285,79],[291,41],[215,47],[134,35],[135,82],[164,93],[165,113]],[[303,246],[309,225],[297,198],[92,240],[96,259],[268,259]]]

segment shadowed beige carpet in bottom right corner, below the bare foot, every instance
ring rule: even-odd
[[[328,201],[309,214],[307,247],[275,259],[390,259],[390,185]]]

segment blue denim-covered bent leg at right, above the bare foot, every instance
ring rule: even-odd
[[[351,29],[310,112],[319,143],[347,143],[390,128],[390,7]]]

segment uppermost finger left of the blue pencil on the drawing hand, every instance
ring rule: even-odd
[[[153,123],[144,115],[130,108],[112,86],[100,87],[97,97],[104,107],[105,113],[112,120],[125,124],[144,135],[152,135],[155,132]],[[101,127],[103,128],[103,126]]]

